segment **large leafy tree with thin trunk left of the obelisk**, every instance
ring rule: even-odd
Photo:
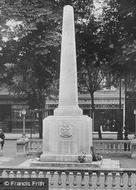
[[[11,26],[7,26],[6,22],[2,26],[7,39],[1,50],[3,65],[13,65],[5,67],[10,76],[6,83],[10,90],[27,97],[30,109],[39,110],[41,137],[46,98],[53,91],[54,81],[58,77],[59,16],[50,1],[4,3],[2,14],[5,21],[20,22],[14,30],[10,30]]]

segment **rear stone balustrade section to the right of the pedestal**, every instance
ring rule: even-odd
[[[100,154],[118,153],[130,154],[130,140],[95,140],[93,142],[94,149]]]

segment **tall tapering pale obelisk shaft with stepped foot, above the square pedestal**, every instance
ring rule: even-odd
[[[64,7],[59,107],[55,110],[55,115],[82,115],[82,110],[78,107],[74,12],[69,5]]]

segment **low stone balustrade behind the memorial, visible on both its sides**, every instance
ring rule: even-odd
[[[130,140],[93,140],[93,146],[96,153],[100,154],[130,154]],[[28,152],[41,153],[42,152],[42,140],[41,139],[31,139],[28,143]]]

